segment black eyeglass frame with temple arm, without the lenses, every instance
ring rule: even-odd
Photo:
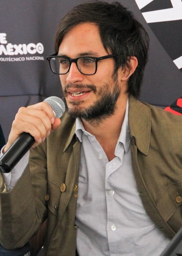
[[[116,57],[116,56],[118,56],[118,55],[119,55],[119,54],[110,54],[110,55],[105,55],[105,56],[102,56],[102,57],[83,56],[83,57],[78,57],[78,58],[76,58],[76,59],[71,59],[71,58],[69,58],[69,57],[66,57],[66,56],[63,56],[63,55],[57,55],[57,54],[55,53],[55,54],[52,54],[52,55],[50,55],[50,56],[47,56],[47,57],[46,57],[46,60],[48,60],[48,62],[49,62],[51,71],[52,71],[54,74],[56,74],[56,75],[65,75],[65,74],[67,74],[67,73],[70,71],[71,63],[75,63],[75,64],[76,64],[76,67],[78,68],[78,70],[79,70],[79,72],[80,72],[81,74],[90,76],[90,75],[94,75],[94,74],[97,72],[97,62],[98,62],[99,60],[104,60],[104,59],[108,59],[108,58],[113,58],[113,57]],[[66,73],[60,74],[60,73],[56,73],[56,72],[53,71],[53,69],[52,69],[52,67],[51,67],[51,59],[53,59],[53,58],[55,58],[55,57],[56,57],[56,58],[62,57],[62,58],[65,58],[65,59],[68,59],[68,60],[69,60],[69,62],[70,62],[70,67],[68,68],[68,71],[67,71]],[[82,58],[85,58],[85,59],[86,59],[86,58],[91,58],[91,59],[94,59],[94,60],[95,60],[95,72],[94,72],[93,74],[84,74],[82,71],[80,71],[80,69],[79,69],[79,67],[78,67],[78,64],[77,64],[77,61],[78,61],[78,59],[82,59]]]

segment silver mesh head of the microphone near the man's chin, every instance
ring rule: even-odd
[[[65,105],[62,99],[56,96],[51,96],[46,99],[44,99],[52,108],[54,111],[54,115],[57,118],[62,117],[64,110],[65,110]]]

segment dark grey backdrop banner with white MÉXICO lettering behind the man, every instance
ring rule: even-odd
[[[81,0],[1,1],[0,124],[7,140],[20,106],[62,96],[59,76],[46,56],[54,53],[60,19]],[[112,2],[112,1],[108,1]],[[182,1],[120,0],[150,37],[149,62],[140,98],[166,108],[182,95]],[[181,101],[179,101],[181,102]]]

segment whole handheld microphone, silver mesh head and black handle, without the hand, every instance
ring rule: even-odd
[[[51,96],[44,99],[54,111],[57,118],[62,117],[65,105],[62,99],[56,96]],[[15,140],[15,142],[8,148],[5,154],[0,158],[0,171],[9,173],[13,167],[20,161],[20,159],[27,153],[27,151],[35,143],[35,139],[27,132],[23,132]]]

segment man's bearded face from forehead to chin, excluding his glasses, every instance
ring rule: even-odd
[[[82,56],[100,57],[108,53],[102,44],[99,29],[92,23],[76,25],[63,38],[58,55],[72,59]],[[86,120],[100,119],[114,113],[120,95],[118,74],[114,73],[114,59],[98,61],[94,75],[83,75],[75,63],[70,71],[60,75],[68,113]]]

